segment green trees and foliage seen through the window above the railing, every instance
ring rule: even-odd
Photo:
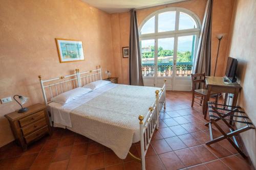
[[[142,53],[142,58],[154,58],[155,55],[155,47],[151,46],[151,52],[148,53]],[[159,57],[167,57],[167,56],[174,56],[173,50],[163,50],[163,47],[158,47],[158,56]],[[177,53],[177,62],[192,62],[191,58],[191,52],[178,52]],[[159,60],[158,60],[159,61]],[[172,62],[173,59],[170,59],[170,62]]]

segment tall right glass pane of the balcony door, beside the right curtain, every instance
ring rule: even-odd
[[[178,37],[176,76],[190,76],[195,55],[196,35]]]

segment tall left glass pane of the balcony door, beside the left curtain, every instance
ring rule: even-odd
[[[154,76],[155,40],[141,40],[142,76]]]

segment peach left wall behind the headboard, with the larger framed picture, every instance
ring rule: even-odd
[[[79,0],[1,1],[0,25],[0,98],[21,94],[30,98],[26,106],[42,103],[38,75],[49,79],[101,65],[115,76],[111,15]],[[81,40],[86,60],[59,63],[56,37]],[[13,140],[4,115],[18,108],[14,101],[0,105],[0,147]]]

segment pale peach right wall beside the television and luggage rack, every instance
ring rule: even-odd
[[[239,105],[243,107],[256,126],[256,1],[237,0],[234,5],[230,46],[228,54],[238,59],[238,82],[243,89]],[[240,126],[240,125],[238,125]],[[256,167],[256,130],[241,134],[245,148]]]

